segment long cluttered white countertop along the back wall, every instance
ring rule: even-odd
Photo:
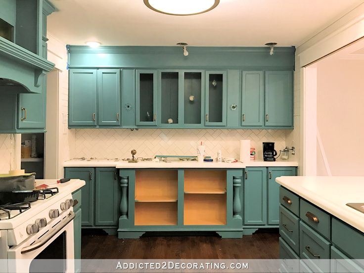
[[[63,163],[63,167],[116,167],[118,169],[129,168],[226,168],[226,169],[243,169],[245,167],[297,167],[295,161],[249,161],[249,162],[203,162],[196,161],[171,161],[171,162],[151,162],[140,161],[138,163],[128,163],[127,161],[113,160],[68,160]]]

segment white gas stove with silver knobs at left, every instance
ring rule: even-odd
[[[53,188],[52,193],[48,192],[42,200],[14,204],[10,206],[12,210],[9,206],[0,209],[0,259],[8,259],[8,272],[36,271],[35,259],[65,260],[62,272],[72,272],[73,205],[78,202],[72,199],[72,192],[85,182],[37,180],[36,183]]]

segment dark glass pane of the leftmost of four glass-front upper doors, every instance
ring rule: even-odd
[[[153,74],[140,74],[140,121],[153,121]]]

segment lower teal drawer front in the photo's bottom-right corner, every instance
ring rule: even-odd
[[[348,256],[336,247],[331,246],[331,272],[359,273],[364,272],[364,268],[361,268],[354,261],[350,260]]]

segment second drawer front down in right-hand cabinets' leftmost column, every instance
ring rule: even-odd
[[[300,253],[299,221],[293,213],[279,206],[279,234],[296,253]]]

